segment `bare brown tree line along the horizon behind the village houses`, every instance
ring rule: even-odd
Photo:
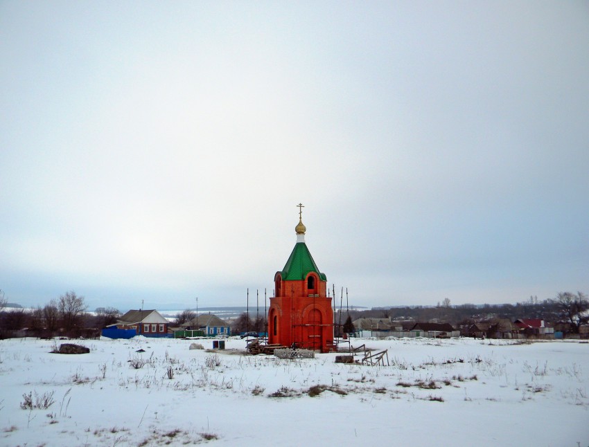
[[[15,331],[27,328],[34,336],[63,335],[69,337],[96,336],[96,332],[112,325],[121,316],[114,307],[98,307],[94,314],[87,313],[87,304],[82,295],[68,291],[54,298],[44,307],[35,309],[11,309],[5,311],[8,299],[0,289],[0,338],[6,338]],[[344,316],[345,314],[345,316]],[[191,309],[177,314],[173,324],[179,326],[196,317]],[[540,318],[552,324],[565,323],[572,334],[579,333],[579,327],[589,325],[589,299],[585,293],[561,292],[555,298],[529,300],[516,304],[475,304],[452,305],[448,298],[435,307],[407,306],[341,310],[335,313],[335,335],[350,332],[351,322],[359,318],[387,318],[393,321],[448,322],[456,328],[467,327],[475,322],[518,318]],[[252,318],[244,312],[231,322],[234,334],[247,331],[263,333],[267,321],[263,316]],[[92,332],[94,331],[94,332]],[[99,332],[98,332],[99,333]]]

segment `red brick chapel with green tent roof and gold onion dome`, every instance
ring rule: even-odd
[[[297,244],[274,275],[268,311],[268,343],[328,352],[333,349],[333,309],[326,295],[327,277],[319,271],[307,245],[299,203]]]

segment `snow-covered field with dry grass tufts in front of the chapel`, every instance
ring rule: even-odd
[[[389,366],[245,356],[239,338],[72,343],[91,351],[0,340],[1,446],[589,446],[578,341],[353,340]]]

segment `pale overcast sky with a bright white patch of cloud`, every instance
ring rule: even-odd
[[[589,293],[587,1],[2,1],[0,289]],[[255,298],[254,298],[255,300]]]

